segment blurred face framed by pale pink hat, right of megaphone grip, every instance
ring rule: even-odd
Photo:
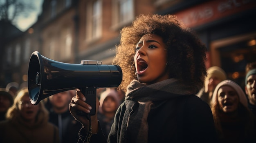
[[[114,97],[108,96],[104,99],[102,110],[104,112],[116,112],[117,111],[117,101]]]

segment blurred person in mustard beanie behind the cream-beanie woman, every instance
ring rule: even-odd
[[[225,71],[218,67],[218,66],[212,66],[207,70],[207,77],[204,81],[204,88],[202,88],[197,96],[200,97],[203,101],[208,103],[210,105],[213,90],[219,84],[221,81],[226,80],[227,75]]]

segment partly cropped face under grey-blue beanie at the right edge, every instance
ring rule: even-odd
[[[251,103],[252,105],[256,105],[256,75],[250,75],[247,78],[245,92],[248,96],[249,103]]]

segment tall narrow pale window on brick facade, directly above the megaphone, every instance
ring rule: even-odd
[[[91,7],[90,7],[91,6]],[[88,20],[87,20],[87,40],[94,40],[101,37],[101,17],[102,2],[95,0],[92,4],[88,4]]]

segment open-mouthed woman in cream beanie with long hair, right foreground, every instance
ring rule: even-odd
[[[248,109],[242,88],[231,80],[220,82],[211,101],[211,110],[220,143],[256,141],[256,121]]]

